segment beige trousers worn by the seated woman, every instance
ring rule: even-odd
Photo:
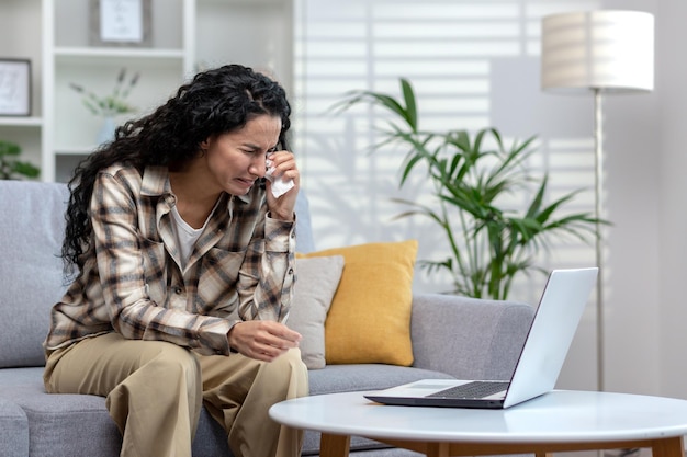
[[[52,353],[44,380],[52,393],[106,397],[122,457],[191,457],[202,404],[226,430],[236,457],[301,452],[302,433],[268,415],[272,404],[308,392],[299,350],[264,363],[109,333]]]

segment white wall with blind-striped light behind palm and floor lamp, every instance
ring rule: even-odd
[[[414,75],[423,103],[430,106],[431,114],[426,117],[431,125],[425,127],[444,128],[447,118],[439,113],[451,112],[447,105],[458,105],[465,108],[453,110],[460,112],[451,117],[454,128],[494,125],[519,138],[537,134],[545,157],[553,157],[555,141],[572,141],[581,149],[582,162],[575,167],[586,170],[582,184],[592,185],[592,95],[573,99],[539,90],[540,18],[595,8],[655,14],[655,91],[605,99],[607,209],[613,222],[608,230],[605,265],[605,388],[687,398],[680,376],[682,347],[687,339],[680,332],[682,322],[687,320],[687,307],[682,306],[687,260],[680,236],[687,225],[683,197],[687,155],[680,148],[687,140],[687,132],[680,128],[687,102],[687,89],[683,87],[687,64],[678,61],[680,56],[673,44],[687,38],[687,2],[424,1],[425,10],[418,14],[409,8],[413,14],[404,18],[398,27],[402,32],[397,32],[396,41],[406,49],[406,56],[390,50],[394,39],[385,33],[394,21],[388,13],[380,13],[385,3],[397,9],[396,20],[408,5],[420,4],[380,0],[296,2],[296,145],[320,249],[419,238],[420,258],[441,251],[441,237],[430,226],[392,220],[398,207],[390,198],[403,194],[396,188],[398,161],[393,156],[370,156],[365,151],[372,137],[370,117],[364,112],[348,117],[324,114],[344,92],[393,92],[397,77]],[[502,9],[497,12],[497,8]],[[455,32],[446,38],[449,46],[428,37],[441,33],[443,26],[441,21],[428,20],[432,13],[443,19],[457,14]],[[485,36],[491,26],[492,36]],[[416,48],[423,49],[421,57]],[[554,176],[567,179],[564,173]],[[405,196],[408,194],[413,192]],[[583,202],[593,209],[589,195]],[[593,261],[593,248],[586,249],[587,256],[576,258],[576,262]],[[420,292],[440,290],[447,284],[442,281],[416,273]],[[538,293],[539,286],[532,285],[530,298]],[[596,387],[594,306],[593,297],[560,387]]]

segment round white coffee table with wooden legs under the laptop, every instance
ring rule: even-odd
[[[320,457],[348,456],[364,436],[431,457],[649,447],[684,457],[687,401],[627,393],[554,390],[506,410],[387,407],[363,392],[283,401],[282,424],[322,432]]]

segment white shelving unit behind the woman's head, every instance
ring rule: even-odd
[[[91,46],[92,7],[93,0],[0,1],[0,58],[29,58],[33,73],[32,116],[0,117],[0,139],[19,142],[43,181],[68,181],[97,146],[102,119],[70,83],[106,94],[122,68],[127,77],[138,72],[128,98],[135,115],[164,103],[199,69],[229,62],[268,71],[291,92],[293,0],[151,0],[146,47]]]

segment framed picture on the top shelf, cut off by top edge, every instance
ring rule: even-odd
[[[90,0],[91,46],[150,46],[150,1]]]

